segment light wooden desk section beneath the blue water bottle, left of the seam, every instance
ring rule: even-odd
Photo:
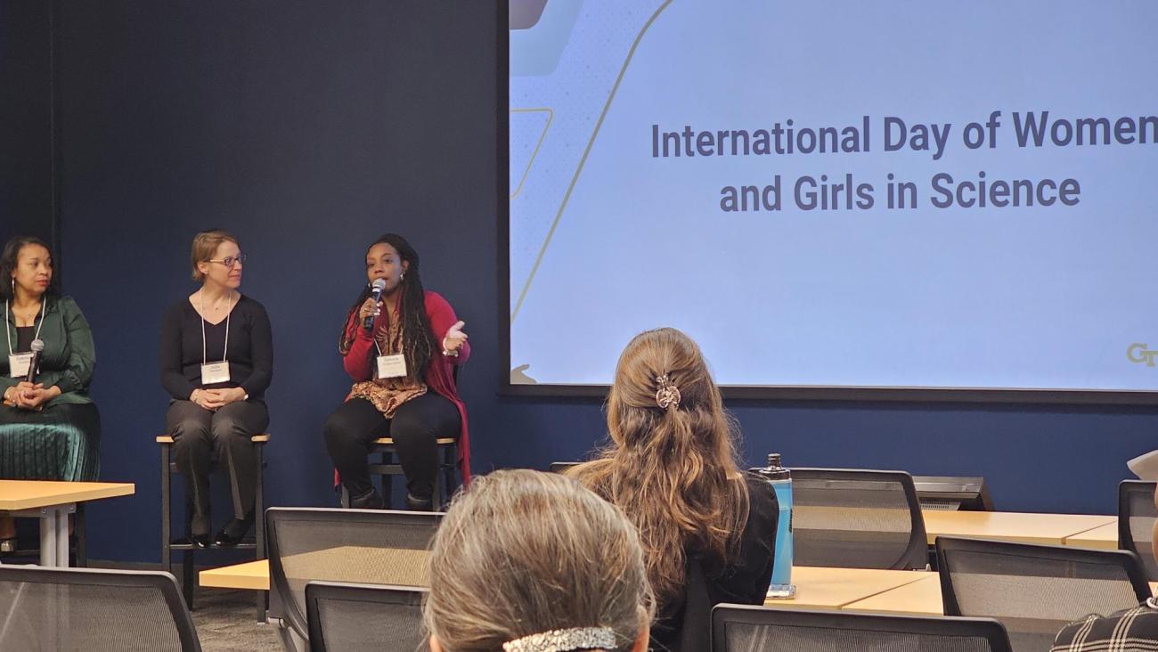
[[[881,571],[873,569],[792,569],[797,595],[792,600],[767,600],[769,607],[786,609],[838,609],[870,595],[904,586],[936,573],[925,571]]]

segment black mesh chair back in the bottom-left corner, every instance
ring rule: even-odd
[[[0,566],[0,650],[200,649],[169,573]]]

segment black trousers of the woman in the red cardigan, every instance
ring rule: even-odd
[[[406,490],[418,499],[434,495],[440,437],[457,438],[462,431],[459,409],[433,391],[406,401],[387,419],[373,403],[351,398],[325,419],[325,447],[342,484],[350,496],[364,496],[374,485],[369,479],[369,444],[389,437],[406,476]]]

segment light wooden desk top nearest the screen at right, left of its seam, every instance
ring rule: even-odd
[[[1117,517],[1021,512],[923,512],[931,545],[937,536],[973,536],[1062,545],[1065,537],[1116,523]]]

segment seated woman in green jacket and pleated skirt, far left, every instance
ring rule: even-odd
[[[7,281],[7,283],[5,283]],[[96,354],[76,302],[54,291],[52,254],[15,237],[0,254],[5,347],[0,354],[0,479],[95,481],[101,417],[88,397]],[[43,344],[28,382],[34,342]],[[0,551],[15,548],[15,523],[0,518]]]

